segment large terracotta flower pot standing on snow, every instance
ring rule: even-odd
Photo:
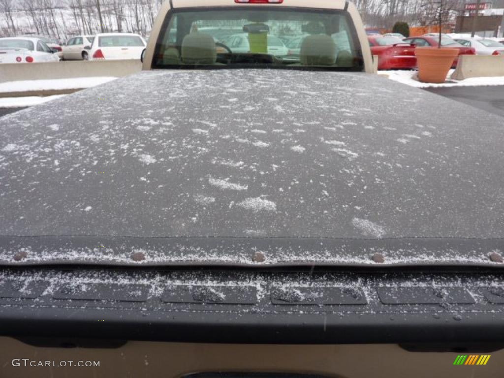
[[[418,80],[424,83],[444,83],[458,53],[457,48],[415,48]]]

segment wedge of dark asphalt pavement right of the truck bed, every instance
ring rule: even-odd
[[[464,104],[504,117],[504,86],[425,88]]]

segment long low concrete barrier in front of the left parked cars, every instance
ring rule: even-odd
[[[114,76],[142,70],[140,60],[60,61],[0,65],[0,83],[21,80],[47,80]]]

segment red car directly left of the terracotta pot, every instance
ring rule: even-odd
[[[368,36],[371,53],[378,56],[379,70],[416,68],[415,46],[397,37]]]

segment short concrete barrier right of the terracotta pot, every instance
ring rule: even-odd
[[[504,76],[502,55],[460,55],[457,69],[451,79],[493,78]]]

